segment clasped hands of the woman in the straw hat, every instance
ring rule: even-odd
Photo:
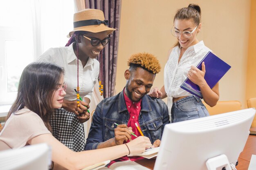
[[[83,101],[79,103],[80,107],[77,107],[77,101],[63,100],[62,108],[65,110],[75,113],[78,116],[79,122],[84,123],[90,119],[90,114],[87,112],[90,108],[89,104]]]

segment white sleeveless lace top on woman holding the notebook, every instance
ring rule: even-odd
[[[180,85],[187,78],[187,73],[191,66],[197,66],[208,51],[211,50],[204,45],[203,41],[200,41],[197,44],[190,46],[184,52],[178,63],[180,48],[178,46],[173,48],[164,67],[164,89],[168,96],[168,108],[172,106],[173,97],[192,95],[180,88]],[[169,110],[169,112],[171,112],[171,110]]]

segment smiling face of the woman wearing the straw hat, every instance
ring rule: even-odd
[[[107,37],[107,31],[99,33],[87,32],[84,35],[88,38],[97,38],[99,40],[104,40]],[[86,57],[96,58],[99,55],[99,52],[104,47],[105,46],[103,46],[101,43],[97,46],[92,46],[90,40],[83,37],[83,35],[79,36],[79,56],[85,55]]]

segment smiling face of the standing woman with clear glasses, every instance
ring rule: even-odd
[[[175,20],[174,21],[174,29],[178,31],[193,31],[197,24],[193,22],[193,20]],[[195,31],[192,33],[192,36],[190,38],[185,38],[184,35],[181,33],[179,37],[177,37],[177,40],[180,43],[180,46],[184,49],[187,49],[190,46],[193,46],[197,44],[199,41],[196,38],[196,35],[198,31],[201,29],[201,24],[198,25],[198,27],[195,29]]]

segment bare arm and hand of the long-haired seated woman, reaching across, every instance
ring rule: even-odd
[[[61,144],[51,134],[39,135],[29,140],[28,143],[30,145],[47,143],[52,147],[52,161],[69,170],[80,170],[95,163],[128,155],[128,148],[130,149],[130,154],[138,154],[151,146],[148,137],[138,137],[127,144],[128,148],[122,144],[110,148],[74,152]]]

